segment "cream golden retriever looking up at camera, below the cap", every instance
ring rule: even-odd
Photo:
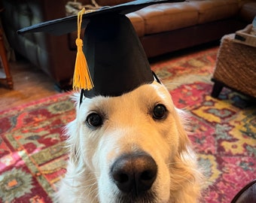
[[[200,198],[203,176],[184,113],[156,81],[120,96],[77,102],[66,134],[70,157],[59,202],[191,203]]]

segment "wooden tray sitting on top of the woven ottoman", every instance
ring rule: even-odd
[[[246,44],[251,47],[256,47],[256,35],[251,35],[252,24],[245,27],[245,29],[236,31],[235,42]]]

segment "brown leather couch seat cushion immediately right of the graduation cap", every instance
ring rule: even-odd
[[[136,14],[144,20],[145,35],[194,26],[198,19],[197,9],[187,2],[151,5]]]

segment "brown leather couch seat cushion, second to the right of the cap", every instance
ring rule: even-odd
[[[192,0],[189,4],[197,8],[199,12],[198,23],[201,24],[233,17],[239,11],[237,0]]]

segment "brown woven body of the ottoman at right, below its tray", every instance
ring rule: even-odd
[[[231,34],[221,39],[213,78],[256,97],[256,47],[234,43],[234,37]]]

